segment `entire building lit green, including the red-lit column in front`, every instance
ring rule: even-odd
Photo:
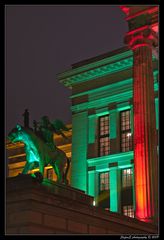
[[[158,7],[122,10],[130,48],[58,75],[72,89],[70,183],[93,196],[96,206],[152,222],[158,218]]]

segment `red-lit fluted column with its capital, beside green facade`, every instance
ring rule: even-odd
[[[158,163],[152,47],[156,33],[147,26],[131,31],[125,41],[133,50],[134,170],[136,218],[157,221]]]

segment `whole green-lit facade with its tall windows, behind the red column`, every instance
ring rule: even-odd
[[[153,56],[158,131],[158,61]],[[58,75],[72,89],[71,186],[134,217],[133,52],[124,47]]]

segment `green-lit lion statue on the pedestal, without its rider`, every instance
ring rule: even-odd
[[[8,134],[11,142],[23,142],[25,144],[26,164],[22,174],[27,174],[29,170],[39,167],[39,172],[44,174],[44,167],[50,164],[56,175],[57,182],[68,184],[67,173],[70,160],[65,152],[54,145],[54,150],[39,138],[30,128],[24,128],[17,124]]]

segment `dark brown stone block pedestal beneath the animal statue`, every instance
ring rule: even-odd
[[[83,191],[30,175],[6,181],[6,234],[153,234],[149,223],[92,205]]]

